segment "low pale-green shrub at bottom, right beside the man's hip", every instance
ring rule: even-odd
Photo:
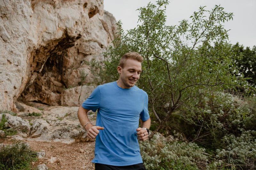
[[[207,168],[204,148],[195,143],[167,142],[155,134],[150,141],[140,142],[140,153],[147,170],[198,170]]]

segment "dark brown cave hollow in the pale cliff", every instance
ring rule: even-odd
[[[77,38],[49,42],[31,53],[30,79],[18,101],[23,103],[37,102],[47,105],[60,105],[61,92],[67,87],[63,75],[67,70],[63,60],[67,57],[68,48],[74,46]]]

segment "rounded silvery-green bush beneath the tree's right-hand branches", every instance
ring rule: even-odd
[[[190,121],[181,123],[179,129],[187,138],[212,148],[221,147],[220,139],[226,134],[240,135],[247,128],[245,121],[252,115],[246,102],[228,93],[201,98],[198,106],[198,115],[189,117]],[[200,125],[192,123],[196,121]]]

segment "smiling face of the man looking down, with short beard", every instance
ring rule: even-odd
[[[117,67],[120,74],[117,85],[123,89],[130,89],[140,78],[141,63],[140,61],[127,59],[124,67]]]

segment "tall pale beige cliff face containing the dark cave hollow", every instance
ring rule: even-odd
[[[97,83],[89,63],[115,38],[103,0],[2,0],[0,16],[0,110],[19,111],[17,100],[79,106]]]

